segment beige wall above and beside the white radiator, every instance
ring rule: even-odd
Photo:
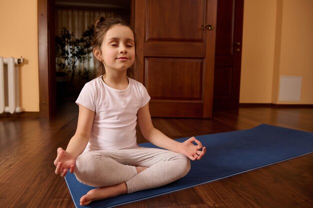
[[[39,111],[37,0],[1,0],[0,25],[0,56],[26,59],[19,67],[20,106]]]

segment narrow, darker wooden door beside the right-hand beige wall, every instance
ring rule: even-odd
[[[218,0],[214,108],[239,107],[243,0]]]

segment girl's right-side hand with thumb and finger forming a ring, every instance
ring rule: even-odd
[[[195,142],[196,145],[194,145],[193,142]],[[190,160],[200,160],[205,154],[205,151],[205,147],[202,147],[201,142],[196,140],[194,137],[179,143],[176,147],[176,152],[181,153]]]

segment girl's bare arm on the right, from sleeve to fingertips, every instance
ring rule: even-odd
[[[183,143],[177,142],[165,136],[153,127],[149,112],[149,104],[138,110],[138,125],[143,137],[152,144],[173,152],[180,153],[191,160],[200,160],[205,154],[205,147],[194,137],[189,138]],[[194,145],[195,142],[197,145]],[[201,150],[202,149],[202,150]]]

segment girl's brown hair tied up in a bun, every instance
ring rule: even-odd
[[[115,17],[109,17],[109,18],[105,18],[104,16],[100,16],[97,17],[94,23],[94,32],[93,32],[93,38],[92,38],[92,48],[96,48],[98,50],[101,50],[101,44],[103,41],[103,38],[106,34],[106,32],[112,28],[114,25],[123,25],[123,26],[127,26],[131,29],[133,36],[134,36],[134,47],[135,47],[135,51],[136,51],[136,36],[134,33],[134,30],[132,29],[132,27],[128,24],[127,21],[125,21],[124,19],[122,19],[119,16],[115,16]],[[137,56],[135,55],[135,61],[137,61]],[[94,66],[96,68],[95,71],[95,77],[101,76],[103,74],[105,74],[105,68],[103,63],[98,60],[94,55],[93,55],[93,62],[94,62]],[[127,69],[127,76],[128,77],[133,77],[134,73],[133,73],[133,66],[131,66],[130,68]]]

